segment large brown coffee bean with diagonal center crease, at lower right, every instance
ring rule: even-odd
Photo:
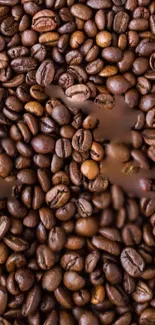
[[[129,275],[139,277],[144,271],[144,261],[134,248],[125,248],[121,253],[121,263]]]

